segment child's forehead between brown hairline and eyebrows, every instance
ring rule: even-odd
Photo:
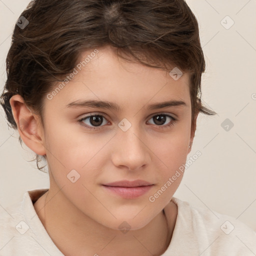
[[[55,93],[51,104],[55,102],[64,107],[67,102],[83,99],[114,101],[121,107],[167,99],[183,100],[189,104],[187,73],[175,80],[169,74],[170,70],[126,61],[109,47],[82,52],[74,70],[72,79]]]

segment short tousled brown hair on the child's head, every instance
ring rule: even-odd
[[[33,0],[21,16],[29,24],[15,25],[0,97],[10,127],[17,129],[12,95],[21,95],[43,124],[43,98],[54,82],[73,70],[82,51],[106,45],[124,59],[190,73],[191,125],[197,112],[216,114],[201,104],[205,61],[197,20],[184,0]]]

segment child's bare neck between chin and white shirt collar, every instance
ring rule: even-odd
[[[96,222],[77,209],[61,190],[58,196],[56,192],[49,189],[34,207],[52,241],[66,256],[161,255],[169,245],[177,214],[173,202],[168,221],[161,211],[143,228],[124,233]]]

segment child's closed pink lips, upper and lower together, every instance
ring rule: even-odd
[[[131,199],[145,194],[154,184],[145,180],[137,179],[133,181],[120,180],[102,185],[110,192],[118,194],[123,198]]]

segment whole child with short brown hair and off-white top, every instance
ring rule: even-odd
[[[173,197],[198,113],[215,114],[184,0],[34,0],[6,64],[1,105],[50,186],[7,209],[1,255],[256,253],[246,225]]]

